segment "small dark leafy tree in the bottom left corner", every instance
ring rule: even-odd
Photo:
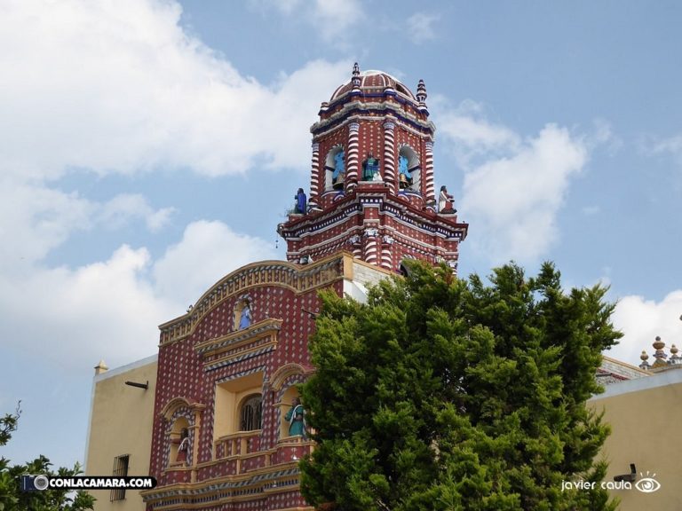
[[[16,431],[21,415],[17,405],[15,413],[0,418],[0,446],[7,444]],[[26,465],[10,466],[9,460],[0,458],[0,511],[84,511],[93,509],[95,499],[85,491],[45,490],[21,491],[21,476],[77,476],[81,467],[76,462],[73,469],[52,471],[52,463],[44,456]]]

